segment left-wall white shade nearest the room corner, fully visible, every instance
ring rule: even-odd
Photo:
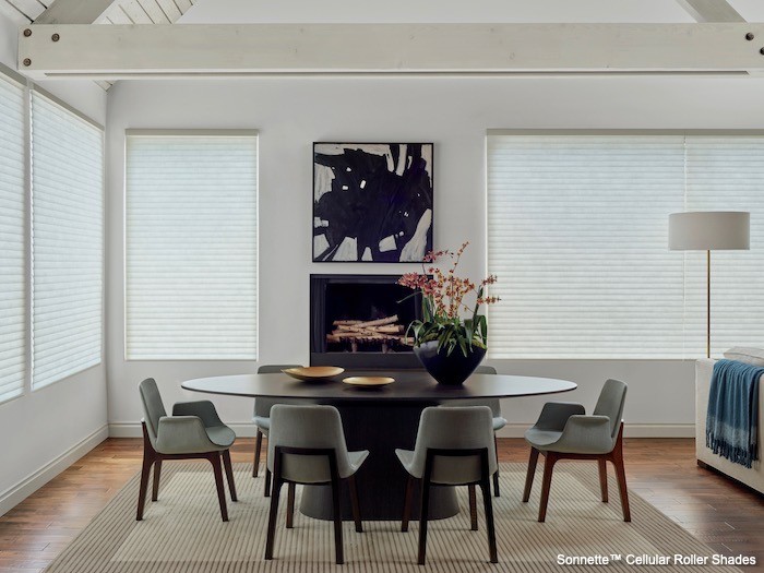
[[[100,362],[103,131],[32,94],[32,386]]]

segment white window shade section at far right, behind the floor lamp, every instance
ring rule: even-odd
[[[687,210],[748,211],[750,251],[712,251],[712,356],[764,344],[764,138],[689,135]],[[692,345],[705,349],[706,253],[687,258],[687,317]]]

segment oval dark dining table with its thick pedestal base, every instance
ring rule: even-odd
[[[387,377],[394,382],[371,387],[344,382],[351,377]],[[453,405],[455,401],[559,394],[577,387],[568,380],[482,373],[470,375],[463,384],[446,385],[439,384],[425,370],[353,370],[334,378],[311,381],[296,380],[285,373],[244,373],[187,380],[181,386],[206,394],[288,398],[336,407],[343,420],[348,450],[370,452],[356,479],[361,516],[372,521],[401,520],[403,515],[408,474],[398,462],[395,450],[414,450],[419,417],[426,407],[445,403]],[[413,503],[411,517],[415,520],[418,518],[418,508],[417,497]],[[303,486],[299,510],[311,517],[332,520],[330,486]],[[342,512],[343,520],[353,518],[348,496],[343,496]],[[429,518],[440,520],[457,513],[454,488],[433,488]]]

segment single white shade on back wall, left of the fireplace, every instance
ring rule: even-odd
[[[256,359],[256,135],[132,133],[127,152],[127,358]]]

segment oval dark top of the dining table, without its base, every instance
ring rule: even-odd
[[[359,387],[343,383],[351,375],[385,375],[395,382],[385,386]],[[423,370],[345,371],[329,380],[302,382],[286,374],[236,374],[187,380],[186,390],[230,396],[353,401],[443,401],[509,398],[570,392],[577,385],[568,380],[506,374],[473,374],[459,386],[438,384]]]

